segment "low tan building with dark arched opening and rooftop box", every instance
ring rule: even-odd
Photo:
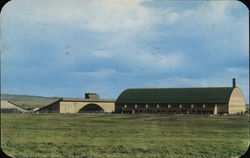
[[[99,99],[95,93],[86,93],[85,99],[60,98],[46,105],[37,113],[111,113],[115,108],[115,100]]]

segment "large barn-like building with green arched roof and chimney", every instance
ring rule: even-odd
[[[116,113],[236,114],[245,100],[233,79],[232,87],[133,88],[117,98]]]

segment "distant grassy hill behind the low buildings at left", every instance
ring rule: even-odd
[[[1,100],[9,100],[26,109],[41,108],[58,99],[59,97],[41,97],[41,96],[18,95],[18,94],[1,95]]]

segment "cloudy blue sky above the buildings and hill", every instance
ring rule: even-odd
[[[126,88],[236,78],[249,102],[249,14],[239,1],[12,0],[0,18],[4,94],[115,99]]]

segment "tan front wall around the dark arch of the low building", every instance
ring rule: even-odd
[[[60,113],[78,113],[81,108],[88,104],[97,104],[103,108],[104,112],[113,112],[114,103],[109,102],[74,102],[74,101],[61,101]]]

